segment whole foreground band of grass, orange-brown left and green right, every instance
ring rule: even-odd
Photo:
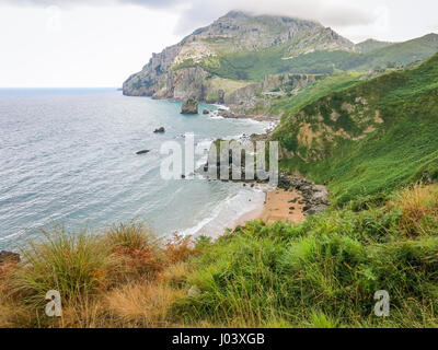
[[[437,234],[438,185],[422,184],[302,224],[249,222],[217,242],[159,242],[138,224],[60,231],[1,267],[0,326],[437,327]],[[147,259],[123,264],[134,252]],[[54,288],[59,319],[43,310]],[[378,290],[390,293],[388,318],[373,315]]]

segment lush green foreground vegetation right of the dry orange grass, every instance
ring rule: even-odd
[[[221,326],[436,327],[437,190],[414,187],[385,207],[300,225],[247,223],[192,261],[187,285],[201,293],[175,312]],[[388,318],[373,314],[382,289]]]

